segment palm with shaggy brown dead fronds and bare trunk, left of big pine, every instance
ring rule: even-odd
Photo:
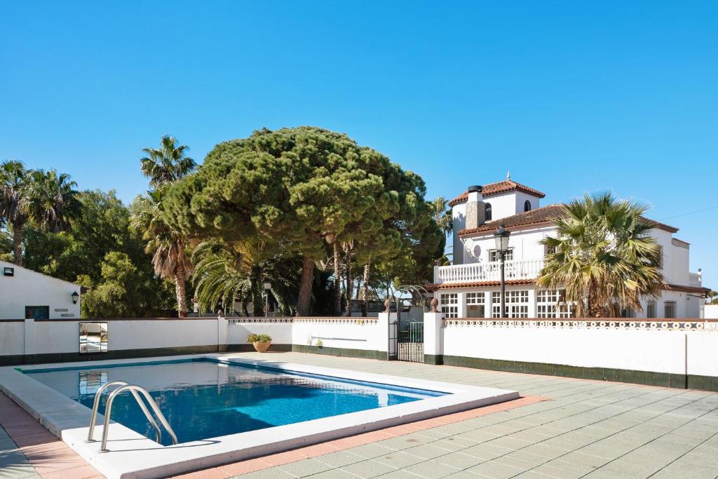
[[[192,264],[187,258],[187,238],[175,231],[162,217],[165,191],[159,188],[135,201],[132,205],[131,227],[141,232],[142,238],[147,241],[145,251],[153,255],[154,274],[174,282],[177,311],[180,317],[186,317],[185,281],[192,274]]]

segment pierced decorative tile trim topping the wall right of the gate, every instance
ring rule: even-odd
[[[521,319],[491,320],[449,318],[443,327],[554,327],[566,329],[638,330],[638,331],[718,331],[718,322],[706,320],[617,320],[617,319]]]

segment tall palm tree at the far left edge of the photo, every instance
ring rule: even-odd
[[[0,164],[0,216],[12,225],[13,260],[22,266],[22,229],[27,223],[25,194],[29,171],[22,162],[8,160]]]

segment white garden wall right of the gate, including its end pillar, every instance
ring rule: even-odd
[[[425,361],[718,390],[718,330],[702,320],[484,320],[424,316]]]

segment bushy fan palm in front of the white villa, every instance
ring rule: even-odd
[[[643,218],[646,210],[609,193],[564,205],[565,214],[555,219],[558,237],[541,241],[551,253],[536,285],[565,288],[565,299],[579,317],[640,310],[641,296],[658,297],[666,287],[661,248],[648,234],[652,225]]]

